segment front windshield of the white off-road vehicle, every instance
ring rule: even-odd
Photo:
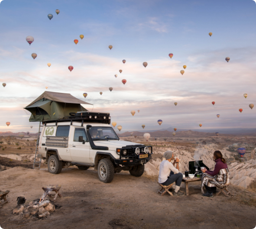
[[[90,127],[89,134],[93,141],[119,140],[112,127]]]

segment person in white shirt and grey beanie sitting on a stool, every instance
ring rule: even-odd
[[[175,185],[175,190],[173,192],[173,195],[174,196],[184,195],[183,192],[179,191],[181,181],[183,178],[182,173],[178,172],[179,159],[177,158],[175,160],[174,155],[170,150],[166,151],[163,156],[166,160],[163,160],[160,163],[158,182],[165,186],[168,186],[175,182],[176,185]],[[174,162],[171,163],[171,160],[174,160]],[[175,164],[177,168],[175,168]]]

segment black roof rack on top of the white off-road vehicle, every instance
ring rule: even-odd
[[[44,121],[44,123],[50,122],[65,122],[65,121],[83,121],[83,122],[99,122],[110,124],[110,114],[109,113],[99,113],[99,112],[71,112],[68,117],[64,117],[62,119]]]

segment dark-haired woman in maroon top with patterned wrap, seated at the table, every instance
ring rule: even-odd
[[[230,173],[226,160],[219,150],[214,152],[213,159],[216,162],[214,171],[202,169],[204,174],[202,175],[201,190],[205,197],[214,197],[213,192],[217,192],[216,187],[224,188],[230,182]],[[204,188],[206,189],[206,193],[204,193]]]

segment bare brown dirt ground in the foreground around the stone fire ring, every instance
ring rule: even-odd
[[[26,204],[42,197],[42,186],[61,184],[63,197],[58,208],[45,219],[23,218],[13,214],[16,198],[26,197]],[[136,178],[129,173],[115,174],[110,184],[100,182],[93,169],[63,169],[58,175],[46,169],[14,167],[0,172],[0,190],[10,190],[10,203],[0,208],[3,229],[254,229],[256,208],[244,198],[255,200],[256,194],[230,187],[232,197],[223,194],[202,197],[199,182],[189,185],[189,196],[160,196],[156,180]],[[181,184],[181,191],[185,191]],[[250,202],[250,201],[249,201]]]

